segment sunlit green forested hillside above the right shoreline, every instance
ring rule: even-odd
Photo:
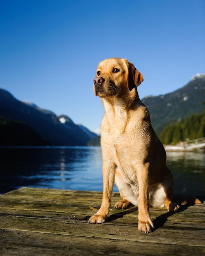
[[[165,145],[205,137],[205,112],[165,126],[159,137]]]

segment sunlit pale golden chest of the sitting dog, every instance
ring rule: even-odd
[[[124,180],[137,184],[137,168],[143,161],[142,137],[145,136],[142,114],[128,113],[122,108],[106,109],[101,124],[104,161],[114,160]],[[143,138],[143,139],[147,139]]]

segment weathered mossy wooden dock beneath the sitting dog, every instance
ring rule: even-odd
[[[156,230],[145,234],[137,207],[111,208],[106,223],[88,224],[101,196],[25,187],[0,195],[0,255],[205,255],[205,203],[175,214],[150,208]],[[112,207],[119,198],[113,193]]]

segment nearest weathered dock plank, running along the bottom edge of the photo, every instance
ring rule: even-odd
[[[203,247],[2,230],[1,255],[203,255]]]

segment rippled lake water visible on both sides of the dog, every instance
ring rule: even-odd
[[[205,195],[205,154],[168,152],[167,165],[174,193]],[[0,148],[0,193],[22,186],[102,191],[101,166],[100,147]]]

